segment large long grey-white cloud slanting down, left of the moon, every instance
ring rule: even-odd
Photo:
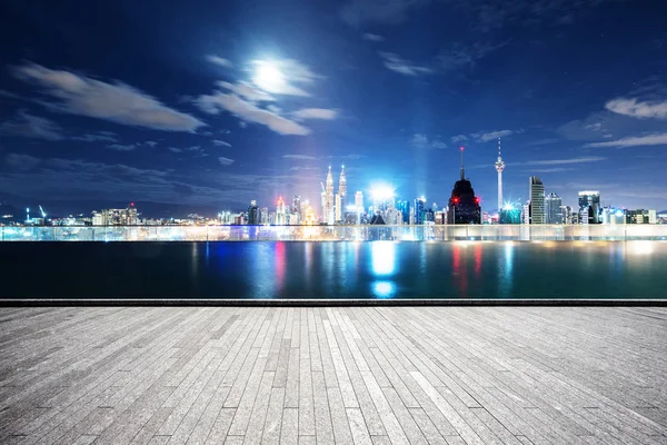
[[[165,131],[193,132],[206,125],[120,82],[106,83],[36,63],[16,67],[13,72],[19,79],[43,87],[44,93],[57,99],[48,106],[62,112]]]

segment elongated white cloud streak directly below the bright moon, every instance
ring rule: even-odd
[[[210,96],[200,96],[196,103],[205,112],[217,115],[221,109],[227,110],[239,119],[261,123],[280,135],[305,136],[310,134],[310,130],[300,123],[261,109],[236,95],[215,92]]]

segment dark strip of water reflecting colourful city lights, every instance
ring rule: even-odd
[[[664,241],[36,243],[3,248],[4,258],[12,258],[3,264],[3,295],[13,297],[667,298]],[[68,261],[59,260],[63,257]]]

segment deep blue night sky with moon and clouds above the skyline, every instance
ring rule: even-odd
[[[667,208],[667,3],[31,1],[0,6],[0,198],[319,214],[320,182],[495,210],[528,178]],[[368,202],[367,202],[368,205]],[[74,210],[92,210],[71,209]]]

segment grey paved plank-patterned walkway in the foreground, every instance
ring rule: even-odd
[[[667,309],[0,309],[0,443],[666,444]]]

